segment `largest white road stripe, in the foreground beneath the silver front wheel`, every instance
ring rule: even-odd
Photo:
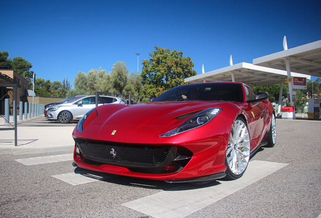
[[[182,218],[269,176],[287,165],[287,163],[253,160],[240,179],[218,181],[218,185],[204,188],[181,185],[122,205],[155,218]]]

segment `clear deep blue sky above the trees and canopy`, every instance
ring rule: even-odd
[[[139,72],[154,46],[183,51],[201,74],[321,39],[321,1],[3,1],[0,51],[37,78],[73,84],[117,61]],[[312,78],[313,79],[313,78]],[[315,77],[314,77],[315,79]]]

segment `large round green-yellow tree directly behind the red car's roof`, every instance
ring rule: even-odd
[[[155,46],[149,53],[151,59],[142,61],[142,81],[146,94],[159,95],[178,85],[184,79],[195,76],[190,57],[183,58],[183,52]]]

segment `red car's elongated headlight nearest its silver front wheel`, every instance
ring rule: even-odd
[[[212,107],[208,108],[204,111],[201,111],[188,119],[186,122],[184,122],[181,126],[178,128],[167,132],[163,135],[160,135],[159,137],[169,137],[169,136],[174,136],[198,127],[201,127],[208,123],[211,119],[215,118],[220,112],[222,111],[222,108],[219,107]]]

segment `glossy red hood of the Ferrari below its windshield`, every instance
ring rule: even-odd
[[[189,113],[215,107],[221,102],[150,102],[125,106],[123,104],[97,107],[100,125],[166,126],[173,119]]]

